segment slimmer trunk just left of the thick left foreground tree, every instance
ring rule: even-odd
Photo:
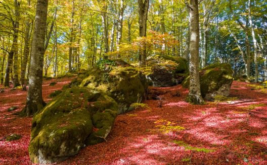
[[[31,1],[28,0],[28,6],[31,5]],[[24,32],[24,50],[23,50],[23,59],[21,64],[21,85],[22,90],[26,91],[27,83],[25,82],[25,74],[26,74],[26,67],[28,63],[28,57],[30,54],[30,29],[31,29],[31,23],[29,15],[27,15],[27,18],[25,20],[25,32]]]

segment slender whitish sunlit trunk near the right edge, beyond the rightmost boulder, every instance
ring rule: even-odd
[[[258,48],[257,48],[257,40],[255,36],[255,31],[252,23],[251,18],[251,2],[248,0],[248,17],[249,17],[249,23],[252,31],[252,38],[253,38],[253,44],[254,44],[254,63],[255,63],[255,82],[258,82]]]

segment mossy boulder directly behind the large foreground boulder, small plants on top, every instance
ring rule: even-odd
[[[145,93],[138,69],[122,60],[100,61],[80,87],[106,93],[118,103],[119,114],[130,111],[132,103],[140,103]]]

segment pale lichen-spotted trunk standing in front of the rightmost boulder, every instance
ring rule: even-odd
[[[199,80],[199,12],[198,0],[190,0],[190,87],[187,101],[202,104]]]

